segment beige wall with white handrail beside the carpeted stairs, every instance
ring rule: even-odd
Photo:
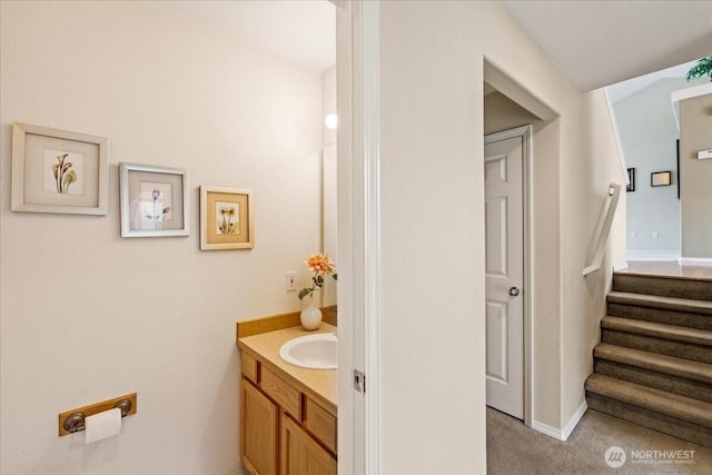
[[[593,370],[593,347],[600,342],[613,266],[625,264],[625,186],[602,89],[583,95],[577,158],[571,151],[562,164],[562,427],[584,400],[584,382]],[[570,155],[571,154],[571,155]],[[581,277],[594,225],[607,198],[609,184],[623,185],[602,268]],[[580,185],[583,185],[581,189]]]

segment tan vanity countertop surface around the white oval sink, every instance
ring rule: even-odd
[[[336,415],[338,370],[300,368],[288,364],[279,356],[279,348],[288,340],[323,333],[336,333],[336,327],[322,321],[319,328],[314,331],[307,331],[301,326],[283,328],[240,337],[237,339],[237,346]]]

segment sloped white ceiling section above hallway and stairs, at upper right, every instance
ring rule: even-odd
[[[712,55],[712,1],[502,1],[582,91]]]

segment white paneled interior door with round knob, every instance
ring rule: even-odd
[[[523,137],[485,137],[487,405],[524,418]]]

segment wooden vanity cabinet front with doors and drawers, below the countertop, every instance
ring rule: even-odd
[[[253,475],[336,475],[336,416],[241,354],[240,457]]]

